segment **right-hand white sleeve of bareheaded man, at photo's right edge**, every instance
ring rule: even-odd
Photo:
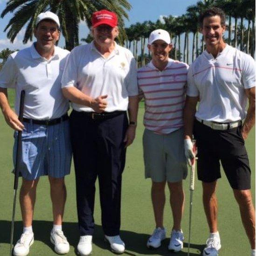
[[[252,87],[255,87],[255,61],[254,59],[244,54],[244,62],[242,67],[242,83],[244,86],[244,89],[249,89]]]

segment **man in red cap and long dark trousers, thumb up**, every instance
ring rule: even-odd
[[[92,251],[95,181],[98,177],[102,227],[116,253],[125,251],[119,236],[121,180],[125,149],[135,138],[138,112],[136,62],[114,40],[116,14],[92,15],[93,42],[72,50],[62,77],[62,91],[72,102],[71,143],[76,172],[80,255]],[[128,110],[129,119],[126,111]]]

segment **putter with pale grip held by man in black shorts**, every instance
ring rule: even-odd
[[[195,145],[195,140],[192,140],[193,143],[193,152],[194,152],[194,158],[191,160],[191,169],[190,169],[190,184],[189,184],[189,190],[190,190],[190,200],[189,200],[189,229],[188,229],[188,250],[187,255],[189,256],[189,249],[190,249],[190,234],[191,234],[191,216],[192,216],[192,200],[193,200],[193,191],[194,191],[194,173],[195,173],[195,161],[197,159],[197,148]]]

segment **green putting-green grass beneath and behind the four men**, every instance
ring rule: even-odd
[[[13,97],[13,94],[10,93]],[[126,255],[172,255],[166,250],[168,239],[164,240],[163,246],[157,250],[148,250],[145,246],[148,235],[154,228],[154,218],[150,199],[151,181],[144,179],[144,164],[142,155],[142,133],[143,112],[141,105],[138,115],[137,136],[134,143],[128,148],[127,161],[123,175],[122,190],[122,224],[121,236],[126,243]],[[13,131],[6,125],[3,115],[0,114],[0,255],[8,255],[9,240],[13,204],[13,181],[14,176],[10,173],[12,165]],[[246,141],[249,160],[252,169],[252,193],[255,194],[255,130],[253,130]],[[19,181],[21,184],[21,180]],[[19,184],[19,185],[20,185]],[[75,175],[72,166],[71,174],[66,177],[68,198],[65,208],[63,228],[70,242],[70,252],[67,255],[76,255],[75,248],[79,239],[76,216],[76,191]],[[185,213],[182,228],[185,234],[185,248],[176,256],[187,255],[188,238],[188,214],[189,214],[189,179],[184,181],[186,193]],[[166,195],[169,193],[166,189]],[[208,237],[208,226],[202,206],[201,183],[196,181],[193,198],[191,256],[200,255]],[[219,199],[219,231],[221,234],[222,256],[249,255],[249,242],[245,235],[238,206],[234,200],[231,188],[225,174],[222,171],[222,179],[218,182]],[[168,202],[168,200],[166,200]],[[113,255],[106,243],[103,242],[103,231],[101,228],[101,214],[99,207],[99,194],[97,187],[95,201],[96,229],[93,236],[93,255]],[[165,227],[170,234],[172,227],[172,215],[170,206],[166,203]],[[17,201],[16,222],[14,241],[17,241],[21,230],[21,211]],[[34,216],[35,243],[30,249],[30,255],[56,255],[49,241],[49,233],[52,227],[52,210],[49,198],[49,185],[47,177],[42,177],[37,188],[37,199]],[[173,254],[174,255],[174,254]]]

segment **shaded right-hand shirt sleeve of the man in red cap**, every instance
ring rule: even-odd
[[[138,95],[137,65],[133,56],[130,61],[130,69],[125,78],[125,83],[128,96]]]

